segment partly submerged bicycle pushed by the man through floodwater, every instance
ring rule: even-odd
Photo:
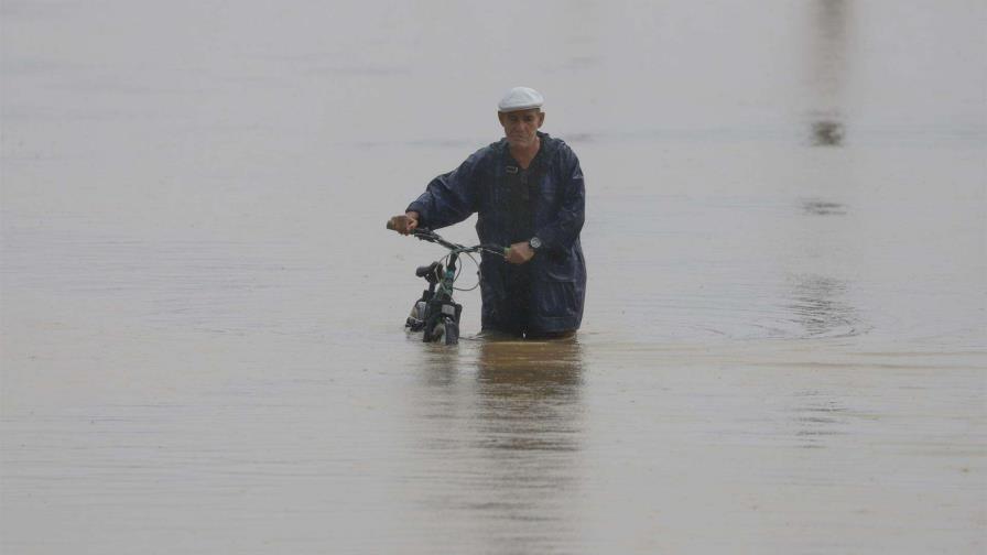
[[[388,229],[394,229],[388,222]],[[474,252],[490,252],[503,255],[506,249],[497,244],[475,244],[464,247],[446,241],[438,233],[427,228],[412,230],[411,235],[422,241],[429,241],[448,249],[449,253],[429,265],[419,266],[414,274],[424,278],[429,282],[429,289],[422,292],[422,297],[415,301],[411,314],[404,322],[409,331],[423,331],[422,340],[425,342],[442,342],[456,345],[459,342],[459,317],[463,314],[463,305],[453,301],[453,291],[458,272],[456,262],[460,254],[470,255]],[[470,257],[473,258],[473,257]],[[443,262],[445,261],[445,262]],[[474,286],[475,289],[475,286]]]

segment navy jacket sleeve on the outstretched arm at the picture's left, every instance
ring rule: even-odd
[[[419,213],[422,227],[444,228],[477,211],[482,153],[482,149],[475,152],[456,170],[432,179],[425,192],[408,206],[408,210]]]

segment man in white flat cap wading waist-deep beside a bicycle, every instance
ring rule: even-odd
[[[545,122],[543,104],[536,90],[509,90],[497,113],[505,139],[432,179],[404,215],[391,218],[394,229],[408,235],[476,213],[480,242],[510,246],[502,259],[482,254],[485,331],[564,337],[583,319],[583,171],[568,145],[539,131]]]

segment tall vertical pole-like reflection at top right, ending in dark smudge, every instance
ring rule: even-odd
[[[815,43],[810,63],[814,92],[810,139],[816,146],[838,146],[846,135],[839,97],[846,74],[847,2],[818,0],[815,7]]]

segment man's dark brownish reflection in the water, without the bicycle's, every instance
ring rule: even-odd
[[[503,553],[554,551],[578,535],[571,511],[581,485],[582,372],[574,339],[480,346],[476,447],[485,479],[467,508]],[[534,531],[543,545],[532,545]]]

